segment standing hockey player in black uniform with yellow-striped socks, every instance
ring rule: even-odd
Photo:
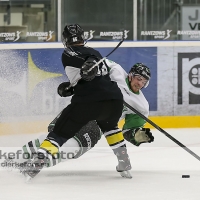
[[[84,45],[84,31],[78,24],[66,26],[62,35],[65,46],[62,63],[70,81],[64,86],[65,95],[73,97],[23,173],[28,178],[35,177],[46,163],[56,159],[60,147],[92,120],[96,120],[117,156],[117,171],[128,172],[131,164],[122,131],[117,127],[123,95],[116,82],[111,81],[105,63],[93,68],[102,56]]]

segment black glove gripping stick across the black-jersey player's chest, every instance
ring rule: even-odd
[[[94,79],[98,72],[98,66],[94,67],[91,71],[89,71],[97,61],[94,58],[88,58],[84,63],[83,66],[81,67],[80,75],[83,80],[85,81],[91,81]]]

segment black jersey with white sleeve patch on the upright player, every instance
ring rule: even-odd
[[[72,102],[94,102],[108,99],[123,100],[122,93],[116,82],[112,82],[105,64],[98,67],[98,73],[91,81],[76,80],[80,78],[80,69],[88,57],[102,58],[93,48],[86,46],[71,46],[64,50],[62,63],[70,83],[74,83]]]

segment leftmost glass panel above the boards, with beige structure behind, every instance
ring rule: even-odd
[[[0,1],[0,42],[56,41],[56,0]]]

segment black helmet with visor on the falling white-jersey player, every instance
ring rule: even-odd
[[[151,78],[151,72],[150,69],[144,65],[143,63],[136,63],[131,67],[131,70],[129,71],[129,74],[132,74],[133,76],[142,76],[147,80],[147,83],[145,84],[144,88],[146,88],[149,85],[149,80]]]

